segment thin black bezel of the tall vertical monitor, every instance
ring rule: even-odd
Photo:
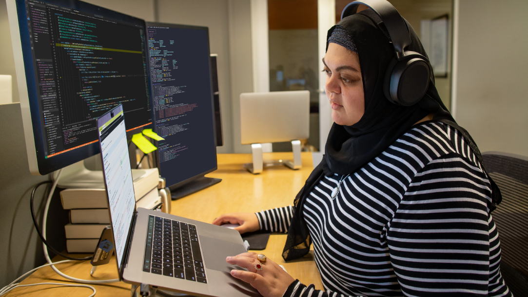
[[[205,30],[205,32],[207,33],[208,57],[211,57],[211,48],[210,48],[211,44],[210,44],[210,39],[209,39],[209,27],[193,26],[193,25],[181,25],[181,24],[169,24],[169,23],[158,23],[158,22],[146,22],[146,26],[147,26],[147,30],[148,30],[149,26],[165,26],[165,27],[171,27],[171,28]],[[150,52],[148,51],[148,47],[147,47],[147,57],[148,57],[148,61],[150,61]],[[213,123],[213,127],[212,128],[213,128],[213,135],[214,135],[214,139],[212,141],[212,144],[213,144],[213,147],[214,147],[214,150],[215,150],[215,153],[214,153],[215,166],[214,166],[214,168],[212,168],[210,170],[206,170],[206,171],[204,171],[202,173],[193,175],[192,177],[188,177],[187,179],[185,179],[183,181],[177,182],[175,184],[166,185],[166,187],[169,188],[170,190],[175,190],[178,187],[180,187],[181,185],[184,185],[184,184],[187,184],[189,182],[192,182],[193,180],[198,179],[200,177],[203,177],[203,175],[211,173],[211,172],[213,172],[213,171],[218,169],[218,157],[216,156],[216,128],[214,126],[215,125],[215,119],[214,119],[214,95],[213,95],[213,78],[212,78],[212,75],[211,75],[211,59],[209,58],[208,61],[209,61],[209,83],[210,83],[210,90],[211,90],[211,107],[212,107],[211,108],[211,119],[212,119],[212,123]],[[147,63],[147,64],[148,64],[149,71],[150,71],[150,63]],[[149,75],[149,79],[151,77],[152,76]],[[150,82],[150,89],[151,89],[151,94],[152,94],[152,82]],[[155,129],[155,131],[157,133],[157,129],[156,129],[156,115],[155,115],[155,111],[154,111],[154,101],[150,100],[150,103],[152,104],[152,125],[154,126],[154,129]],[[156,141],[156,146],[157,145],[158,144],[157,144],[157,141]],[[155,152],[155,156],[156,156],[155,157],[155,159],[156,159],[156,167],[159,169],[160,168],[159,151],[156,150],[154,152]],[[161,174],[161,170],[160,170],[160,174]],[[162,175],[162,177],[163,177],[163,175]]]

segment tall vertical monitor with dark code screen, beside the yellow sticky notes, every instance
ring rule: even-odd
[[[220,179],[207,27],[147,22],[157,166],[177,199]]]

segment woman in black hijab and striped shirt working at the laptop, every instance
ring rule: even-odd
[[[408,26],[408,50],[426,55]],[[262,295],[511,296],[490,215],[500,194],[480,153],[432,81],[418,104],[389,103],[382,86],[393,57],[370,9],[332,27],[323,71],[335,124],[295,207],[213,222],[240,224],[240,233],[287,231],[286,260],[314,244],[325,292],[254,253],[228,257],[249,270],[231,274]]]

